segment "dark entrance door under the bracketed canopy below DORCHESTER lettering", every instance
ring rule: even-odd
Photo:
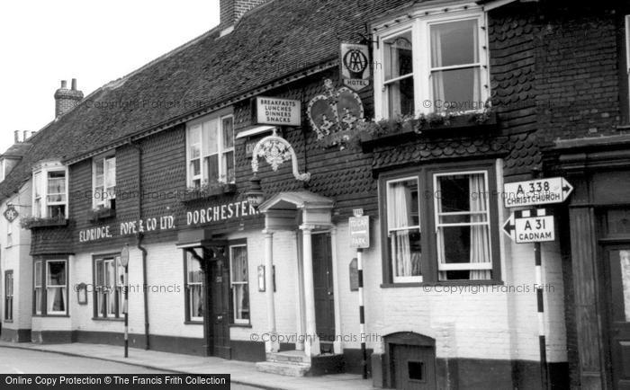
[[[229,348],[228,260],[211,261],[210,276],[212,356],[231,359],[231,350]]]

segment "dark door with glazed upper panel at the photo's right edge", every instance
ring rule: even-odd
[[[630,244],[610,247],[606,252],[614,387],[630,390]]]

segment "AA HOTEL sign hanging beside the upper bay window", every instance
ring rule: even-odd
[[[370,51],[367,45],[356,43],[341,44],[341,81],[354,91],[361,91],[370,85]]]

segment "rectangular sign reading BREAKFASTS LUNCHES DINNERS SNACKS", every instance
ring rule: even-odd
[[[302,126],[302,102],[257,96],[253,104],[258,125]]]

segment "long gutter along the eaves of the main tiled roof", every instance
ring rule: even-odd
[[[123,146],[129,143],[130,141],[135,141],[140,138],[148,137],[153,134],[159,133],[166,129],[171,129],[179,124],[188,122],[190,120],[194,120],[196,118],[207,115],[211,112],[218,111],[222,108],[233,105],[237,102],[242,102],[244,100],[257,96],[260,93],[265,93],[267,91],[284,86],[286,84],[294,83],[308,76],[315,75],[325,70],[328,70],[330,68],[334,68],[338,66],[339,66],[338,57],[337,56],[330,57],[328,60],[320,62],[320,64],[316,66],[311,66],[310,68],[295,72],[293,73],[293,75],[278,78],[275,81],[265,84],[264,86],[252,89],[248,91],[247,93],[238,93],[226,100],[222,100],[222,101],[218,100],[217,102],[206,104],[199,110],[184,113],[182,115],[175,117],[172,120],[166,120],[162,123],[158,123],[157,125],[152,125],[151,127],[148,127],[146,129],[141,129],[135,133],[131,133],[130,135],[120,137],[112,141],[111,143],[107,144],[107,146],[98,147],[98,148],[90,150],[89,152],[83,153],[81,155],[76,155],[76,156],[67,158],[63,160],[63,163],[67,165],[76,164],[80,161],[91,158],[94,155],[100,155],[102,153],[115,149],[116,147]]]

